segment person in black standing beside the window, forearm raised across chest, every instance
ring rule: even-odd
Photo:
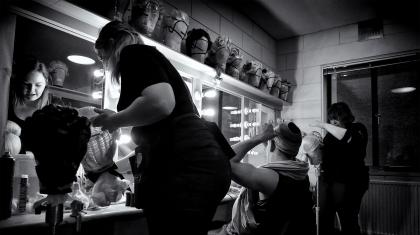
[[[338,213],[342,234],[360,234],[358,214],[363,195],[369,186],[365,166],[368,134],[343,102],[328,109],[329,123],[316,123],[324,129],[322,174],[320,177],[320,233],[334,234]]]

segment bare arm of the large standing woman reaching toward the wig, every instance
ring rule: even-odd
[[[169,116],[175,107],[175,95],[168,83],[157,83],[145,88],[126,109],[118,113],[95,110],[100,115],[93,120],[94,126],[115,130],[126,126],[144,126]]]

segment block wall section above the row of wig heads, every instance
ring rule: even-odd
[[[165,7],[175,7],[190,16],[189,30],[203,28],[212,41],[228,36],[246,60],[258,60],[276,69],[276,43],[260,27],[239,11],[220,2],[200,0],[165,0]]]

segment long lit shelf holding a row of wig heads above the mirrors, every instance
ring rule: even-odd
[[[72,1],[34,0],[33,2],[36,6],[31,7],[29,5],[32,14],[45,15],[52,11],[48,13],[50,22],[83,35],[92,42],[96,40],[99,29],[110,19],[118,18],[128,21],[128,19],[131,19],[130,17],[141,17],[131,15],[130,9],[135,6],[113,6],[112,9],[117,9],[117,11],[111,11],[110,15],[100,16],[100,13],[96,10],[90,9],[88,6],[77,6],[71,3]],[[131,2],[128,4],[131,4]],[[28,5],[25,7],[28,7]],[[19,8],[17,9],[19,10]],[[187,50],[181,49],[181,41],[183,39],[187,41],[194,34],[194,31],[191,30],[189,33],[187,32],[188,15],[173,8],[162,9],[161,6],[153,6],[152,9],[148,10],[154,10],[154,13],[162,14],[162,20],[158,21],[154,31],[150,33],[143,31],[145,29],[141,29],[141,25],[134,24],[133,26],[140,32],[145,44],[155,46],[162,52],[176,67],[181,76],[188,79],[200,79],[206,84],[213,84],[220,90],[243,95],[276,110],[281,110],[283,104],[287,104],[287,95],[292,85],[282,80],[273,71],[263,68],[258,61],[242,63],[239,49],[235,48],[228,38],[219,36],[211,47],[207,47],[204,58],[196,58],[192,56],[191,51],[197,48],[203,50],[202,47],[206,46],[206,43],[200,45],[201,42],[205,41],[203,40],[205,37],[200,37],[191,44],[195,47],[190,48],[191,57],[187,56],[180,51],[186,52]],[[136,18],[131,20],[134,19]],[[137,20],[138,22],[141,21],[140,19]],[[220,56],[220,53],[222,53],[222,56]],[[186,54],[188,53],[186,52]],[[218,57],[223,57],[223,59],[215,59]],[[106,96],[106,94],[104,95]],[[106,106],[106,101],[104,105]]]

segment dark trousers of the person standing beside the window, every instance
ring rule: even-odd
[[[335,234],[335,219],[338,214],[341,234],[359,235],[359,210],[367,184],[348,184],[337,181],[319,180],[319,228],[321,235]]]

